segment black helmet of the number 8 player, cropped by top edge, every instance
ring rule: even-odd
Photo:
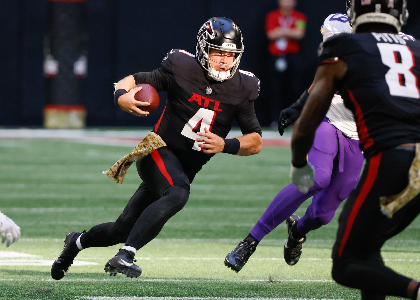
[[[354,32],[357,26],[366,23],[382,23],[394,26],[401,31],[408,18],[407,0],[352,0],[347,11],[349,23]]]

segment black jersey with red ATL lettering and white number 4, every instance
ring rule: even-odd
[[[189,168],[198,171],[214,155],[203,153],[197,146],[201,142],[194,141],[205,127],[225,138],[236,119],[243,134],[261,134],[253,102],[260,81],[250,72],[237,70],[231,79],[209,80],[195,55],[172,49],[162,67],[133,76],[136,84],[167,91],[165,109],[153,130]]]

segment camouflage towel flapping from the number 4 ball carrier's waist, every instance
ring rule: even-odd
[[[102,173],[107,174],[108,177],[116,183],[123,183],[124,176],[133,161],[138,161],[153,150],[163,146],[166,146],[163,139],[158,134],[150,132],[141,142],[139,142],[139,145],[137,145],[131,153],[120,158],[108,171],[103,171]]]

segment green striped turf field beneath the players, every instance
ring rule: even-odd
[[[0,210],[21,226],[19,242],[0,244],[0,299],[360,299],[357,290],[331,279],[337,215],[307,235],[296,266],[283,260],[285,223],[260,242],[239,273],[223,265],[226,254],[289,184],[289,147],[263,147],[249,157],[216,155],[197,174],[185,208],[138,251],[139,278],[103,271],[118,251],[115,245],[83,250],[66,277],[51,279],[65,234],[114,221],[138,187],[135,167],[123,184],[102,174],[134,146],[0,139]],[[419,246],[417,218],[386,243],[383,258],[396,271],[420,279]]]

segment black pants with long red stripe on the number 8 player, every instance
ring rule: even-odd
[[[407,186],[414,155],[414,147],[397,147],[368,159],[339,217],[332,276],[339,284],[360,289],[363,300],[385,299],[385,295],[407,297],[412,279],[384,265],[381,247],[419,214],[420,195],[391,219],[381,213],[379,197],[396,195]]]

